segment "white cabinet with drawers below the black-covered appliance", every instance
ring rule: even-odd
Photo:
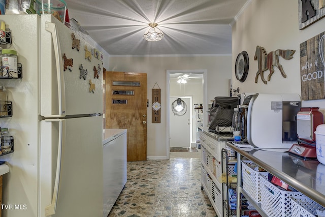
[[[208,132],[206,128],[199,128],[201,142],[201,182],[202,190],[207,193],[211,204],[218,216],[226,216],[223,210],[224,200],[226,199],[225,183],[222,183],[222,172],[225,165],[222,162],[222,148],[225,143],[232,140],[232,135],[220,136]],[[232,170],[234,173],[234,170]]]

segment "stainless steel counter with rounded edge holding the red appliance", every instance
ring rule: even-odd
[[[231,142],[227,142],[226,145],[238,153],[237,177],[241,174],[240,157],[242,156],[325,207],[325,165],[317,160],[304,161],[288,152],[256,149],[245,151]]]

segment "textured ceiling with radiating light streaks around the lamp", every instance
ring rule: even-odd
[[[231,54],[231,23],[249,0],[66,0],[74,18],[110,55]],[[148,23],[164,38],[148,42]]]

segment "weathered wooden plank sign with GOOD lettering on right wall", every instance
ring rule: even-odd
[[[325,32],[300,44],[300,76],[302,100],[325,98]]]

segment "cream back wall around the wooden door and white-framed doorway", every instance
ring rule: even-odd
[[[147,73],[148,99],[155,82],[161,88],[161,123],[151,123],[148,108],[147,156],[151,159],[167,158],[166,141],[166,71],[207,70],[208,101],[216,96],[228,96],[231,78],[231,55],[224,56],[111,56],[109,71]],[[165,107],[164,107],[165,106]],[[169,156],[168,156],[169,158]]]

